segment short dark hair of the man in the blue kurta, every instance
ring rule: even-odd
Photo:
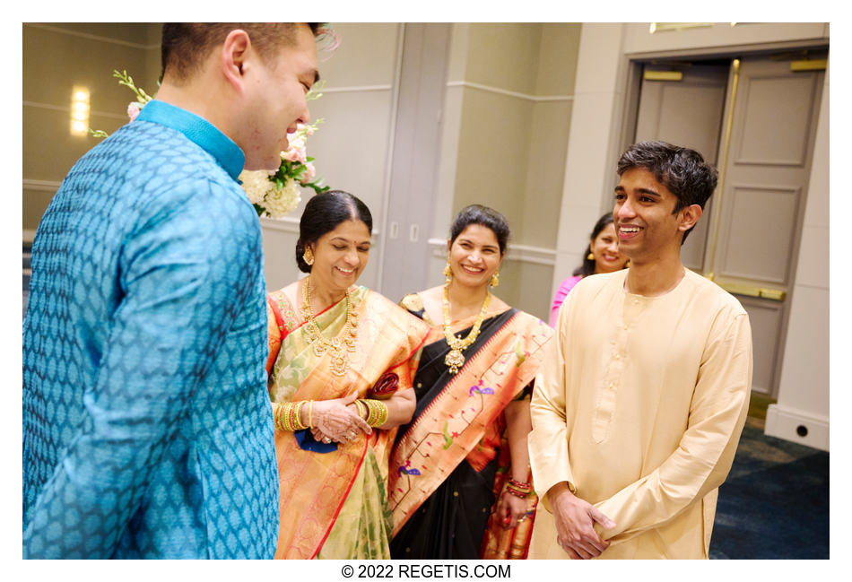
[[[231,30],[245,30],[261,58],[296,42],[299,22],[166,22],[162,25],[161,79],[168,69],[176,81],[186,81],[200,68],[210,50]],[[305,22],[317,36],[320,22]]]

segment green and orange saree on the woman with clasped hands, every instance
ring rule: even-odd
[[[298,284],[298,283],[293,283]],[[412,387],[428,327],[364,287],[352,288],[358,335],[343,377],[330,371],[331,351],[317,357],[302,333],[304,320],[285,293],[267,298],[269,394],[274,403],[359,398],[386,373],[398,390]],[[343,329],[346,300],[316,317],[326,337]],[[308,431],[275,431],[280,524],[275,558],[387,559],[391,514],[387,459],[396,430],[373,430],[346,444],[318,447]]]

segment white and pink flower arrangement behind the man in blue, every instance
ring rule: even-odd
[[[153,98],[151,95],[136,87],[133,78],[126,71],[113,71],[112,76],[118,79],[119,85],[125,85],[135,92],[136,100],[127,105],[127,117],[132,123],[139,115],[143,107]],[[321,90],[324,83],[308,91],[306,99],[315,100],[322,97]],[[280,219],[290,213],[301,201],[300,186],[313,188],[317,194],[328,190],[323,185],[322,178],[315,179],[317,169],[314,161],[308,155],[306,144],[308,136],[317,131],[317,126],[323,122],[316,122],[296,126],[296,131],[287,135],[287,149],[281,152],[281,165],[274,172],[264,169],[245,169],[239,174],[239,181],[248,196],[248,201],[254,204],[258,216]],[[107,132],[101,129],[90,129],[94,137],[107,137]]]

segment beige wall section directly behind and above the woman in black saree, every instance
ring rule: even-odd
[[[450,51],[435,252],[467,204],[505,214],[513,239],[498,295],[547,319],[580,25],[455,24]]]

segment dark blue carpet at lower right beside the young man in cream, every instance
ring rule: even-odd
[[[746,425],[719,488],[710,559],[829,558],[829,454]]]

